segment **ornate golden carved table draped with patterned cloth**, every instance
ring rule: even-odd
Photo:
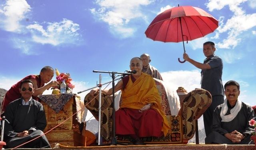
[[[60,143],[65,146],[74,146],[73,134],[78,132],[79,124],[82,123],[84,114],[84,102],[80,99],[80,96],[76,94],[50,94],[38,95],[38,97],[44,106],[46,114],[47,125],[44,133],[68,119],[77,110],[81,110],[46,134],[50,144]]]

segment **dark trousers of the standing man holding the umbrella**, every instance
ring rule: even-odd
[[[211,126],[212,126],[213,111],[215,110],[215,108],[218,105],[220,105],[222,103],[224,103],[224,96],[222,96],[222,95],[212,96],[212,104],[204,112],[204,130],[205,130],[206,136],[208,136],[212,132]]]

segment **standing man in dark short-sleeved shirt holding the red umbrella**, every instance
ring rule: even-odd
[[[212,114],[214,109],[224,102],[224,88],[222,84],[222,59],[214,55],[216,48],[214,42],[205,42],[203,44],[203,52],[206,59],[204,63],[196,62],[184,53],[184,60],[190,62],[201,71],[201,88],[208,90],[212,95],[212,104],[204,112],[204,129],[206,136],[210,134],[212,125]]]

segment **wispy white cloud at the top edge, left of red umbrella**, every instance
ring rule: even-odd
[[[91,13],[108,23],[112,33],[122,38],[132,36],[136,31],[129,23],[131,20],[142,18],[140,7],[152,3],[154,0],[96,0],[100,6],[98,10],[91,9]],[[129,24],[129,25],[128,25]]]

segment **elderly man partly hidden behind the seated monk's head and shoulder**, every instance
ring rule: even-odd
[[[158,80],[163,80],[158,70],[149,64],[151,62],[149,54],[140,55],[140,59],[142,60],[142,64],[143,64],[142,72]]]

